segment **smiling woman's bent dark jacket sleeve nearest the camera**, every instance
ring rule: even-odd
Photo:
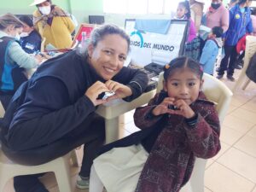
[[[25,102],[14,114],[7,135],[9,147],[26,150],[52,143],[81,125],[95,110],[86,96],[71,103],[60,80],[40,79],[26,90]]]

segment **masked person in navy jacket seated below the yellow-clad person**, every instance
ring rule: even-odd
[[[23,22],[23,32],[20,34],[20,45],[28,54],[37,53],[41,50],[41,36],[34,29],[32,18],[22,15],[19,18]]]

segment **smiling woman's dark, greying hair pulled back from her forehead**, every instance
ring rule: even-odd
[[[103,26],[96,27],[91,33],[90,33],[90,44],[92,44],[94,47],[102,41],[103,38],[105,38],[106,35],[112,35],[117,34],[124,38],[128,45],[128,50],[130,50],[130,44],[131,40],[129,36],[126,34],[126,32],[119,28],[119,26],[115,26],[113,24],[107,24]]]

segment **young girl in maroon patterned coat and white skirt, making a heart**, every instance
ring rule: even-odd
[[[201,91],[198,62],[178,57],[166,65],[164,88],[137,108],[137,131],[110,143],[94,160],[90,192],[177,192],[188,182],[195,157],[218,153],[219,120]]]

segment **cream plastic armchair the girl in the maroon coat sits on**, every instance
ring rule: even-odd
[[[216,109],[218,111],[218,118],[220,124],[223,123],[224,117],[229,109],[232,92],[231,90],[221,81],[212,77],[207,73],[203,75],[204,84],[202,90],[207,96],[207,99],[217,103]],[[163,88],[163,73],[160,73],[159,83],[157,92],[160,92]],[[195,166],[189,182],[181,189],[181,192],[204,192],[204,176],[207,160],[196,158]]]

